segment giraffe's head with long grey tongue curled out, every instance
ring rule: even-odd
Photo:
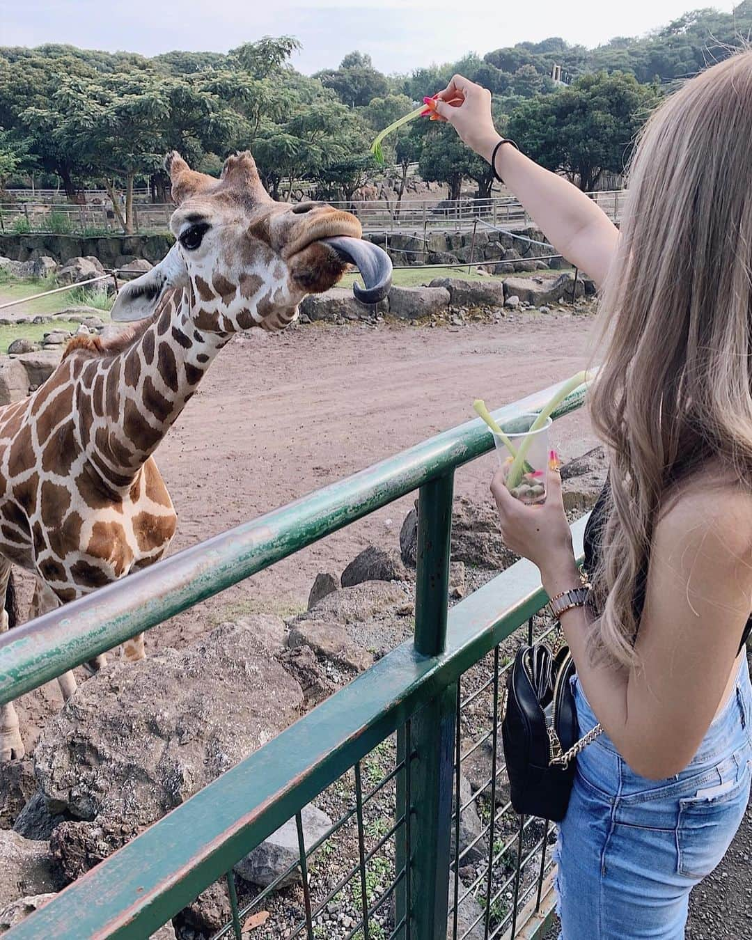
[[[369,302],[388,290],[391,263],[361,241],[353,215],[322,203],[275,202],[249,152],[228,157],[219,180],[192,170],[175,151],[165,167],[177,241],[118,293],[113,320],[149,317],[165,291],[183,288],[203,330],[277,330],[295,319],[306,294],[331,288],[350,262],[361,268]]]

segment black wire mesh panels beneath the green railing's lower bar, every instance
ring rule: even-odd
[[[530,618],[457,682],[447,940],[540,935],[552,913],[556,830],[512,809],[501,723],[513,651],[523,639],[552,641],[553,631],[547,620]],[[403,734],[414,741],[410,720]],[[231,917],[211,940],[410,940],[410,911],[399,912],[397,895],[411,893],[412,768],[420,746],[411,744],[400,759],[391,735],[321,791],[314,812],[325,807],[335,817],[321,835],[307,835],[310,807],[296,813],[272,839],[288,845],[290,861],[268,884],[243,877],[264,880],[263,858],[253,853],[228,871]]]

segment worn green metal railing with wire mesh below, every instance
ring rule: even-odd
[[[521,430],[519,415],[555,391],[494,416]],[[554,416],[583,398],[580,388]],[[520,561],[447,603],[454,472],[492,448],[485,425],[469,422],[0,638],[3,703],[419,489],[414,639],[27,917],[14,940],[147,937],[220,879],[231,918],[215,935],[240,940],[243,917],[268,907],[273,923],[275,888],[293,871],[299,900],[286,901],[285,917],[293,910],[298,921],[288,936],[328,936],[327,917],[343,907],[354,915],[337,936],[358,940],[442,940],[447,923],[452,940],[540,932],[552,910],[552,833],[511,812],[497,758],[512,635],[525,624],[528,637],[551,629],[538,616],[546,597]],[[578,552],[583,528],[572,528]],[[463,740],[473,743],[463,750]],[[480,754],[488,778],[468,797],[462,768]],[[320,797],[339,814],[310,845],[301,814]],[[480,830],[461,849],[474,809]],[[293,819],[290,870],[263,889],[236,880],[233,867]]]

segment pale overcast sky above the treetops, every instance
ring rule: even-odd
[[[665,25],[707,0],[3,0],[0,45],[70,42],[156,55],[172,49],[226,52],[265,34],[303,43],[292,64],[336,67],[353,49],[384,72],[412,71],[525,39],[561,36],[598,45]],[[730,10],[729,0],[713,7]]]

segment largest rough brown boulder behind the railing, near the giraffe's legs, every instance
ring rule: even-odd
[[[222,624],[85,682],[42,731],[39,789],[52,812],[151,823],[287,728],[302,704],[252,628]]]

